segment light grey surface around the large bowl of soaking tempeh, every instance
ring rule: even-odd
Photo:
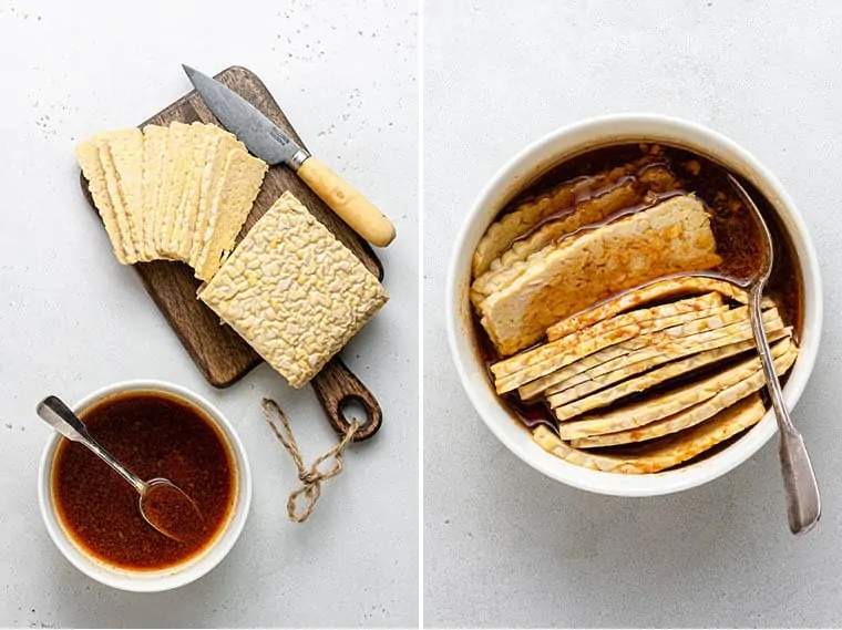
[[[842,7],[831,0],[425,2],[425,624],[842,623],[840,24]],[[787,527],[774,442],[692,492],[603,497],[522,464],[462,391],[443,292],[474,197],[527,143],[623,111],[672,114],[731,136],[804,214],[826,314],[793,414],[824,499],[818,529],[803,539]]]

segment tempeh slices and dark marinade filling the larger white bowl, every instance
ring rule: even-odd
[[[476,345],[548,452],[651,473],[715,453],[762,417],[745,293],[722,280],[756,268],[759,240],[726,174],[663,143],[603,146],[541,175],[486,229],[472,260]],[[764,308],[785,379],[802,281],[771,204],[746,185],[774,241]],[[708,280],[694,285],[696,273]]]

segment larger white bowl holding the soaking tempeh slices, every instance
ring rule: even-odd
[[[801,351],[783,395],[791,410],[804,391],[819,350],[822,327],[822,288],[815,248],[795,204],[778,179],[751,154],[721,134],[701,125],[659,115],[620,114],[591,118],[551,133],[516,155],[492,178],[471,208],[451,259],[446,320],[451,352],[471,402],[489,428],[521,459],[545,475],[572,486],[618,496],[651,496],[705,484],[733,469],[777,432],[769,412],[728,448],[697,463],[650,475],[619,475],[569,464],[533,442],[502,405],[485,372],[474,340],[468,288],[471,256],[497,213],[536,176],[585,149],[622,142],[660,142],[678,145],[718,162],[751,182],[774,207],[794,245],[803,278],[803,335]],[[782,138],[783,140],[783,138]]]

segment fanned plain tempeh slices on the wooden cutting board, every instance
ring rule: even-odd
[[[97,134],[76,157],[120,262],[182,260],[202,280],[233,249],[267,169],[202,123]]]

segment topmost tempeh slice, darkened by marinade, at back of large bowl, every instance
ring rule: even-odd
[[[516,239],[525,236],[553,215],[571,208],[577,197],[589,196],[593,194],[592,190],[612,186],[656,159],[644,156],[627,165],[602,172],[594,177],[565,182],[536,198],[523,202],[514,210],[493,223],[480,239],[473,255],[473,276],[478,277],[489,269],[494,259],[509,249]],[[571,231],[575,227],[572,227]]]

